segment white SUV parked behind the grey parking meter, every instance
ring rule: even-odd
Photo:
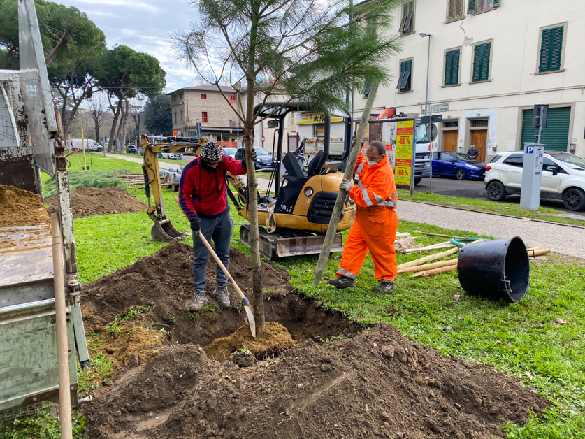
[[[519,195],[523,151],[500,152],[486,166],[484,185],[490,199]],[[568,210],[585,209],[585,159],[561,151],[544,151],[540,198],[563,200]]]

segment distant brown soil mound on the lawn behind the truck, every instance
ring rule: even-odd
[[[57,195],[46,199],[45,203],[50,206],[47,208],[48,213],[53,213],[59,208]],[[71,191],[71,208],[73,218],[84,218],[110,213],[143,212],[147,206],[117,187],[99,189],[81,186]]]

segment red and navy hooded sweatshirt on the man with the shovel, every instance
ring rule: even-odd
[[[246,168],[242,162],[224,155],[217,169],[208,171],[197,157],[183,168],[179,185],[179,203],[189,221],[202,218],[217,218],[229,212],[226,196],[226,172],[243,175]]]

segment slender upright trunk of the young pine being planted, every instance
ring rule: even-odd
[[[257,11],[256,11],[257,13]],[[256,78],[252,75],[255,66],[255,44],[257,42],[257,20],[255,13],[252,13],[252,26],[250,29],[250,55],[247,66],[247,102],[246,117],[244,123],[244,146],[247,164],[247,186],[249,204],[248,214],[250,215],[250,252],[252,259],[252,292],[254,294],[254,318],[256,326],[263,329],[264,317],[264,293],[262,291],[262,261],[260,259],[260,234],[258,229],[258,181],[256,170],[251,154],[254,148],[254,86]]]

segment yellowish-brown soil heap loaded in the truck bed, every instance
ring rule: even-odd
[[[0,185],[0,227],[50,223],[40,195],[14,186]]]

